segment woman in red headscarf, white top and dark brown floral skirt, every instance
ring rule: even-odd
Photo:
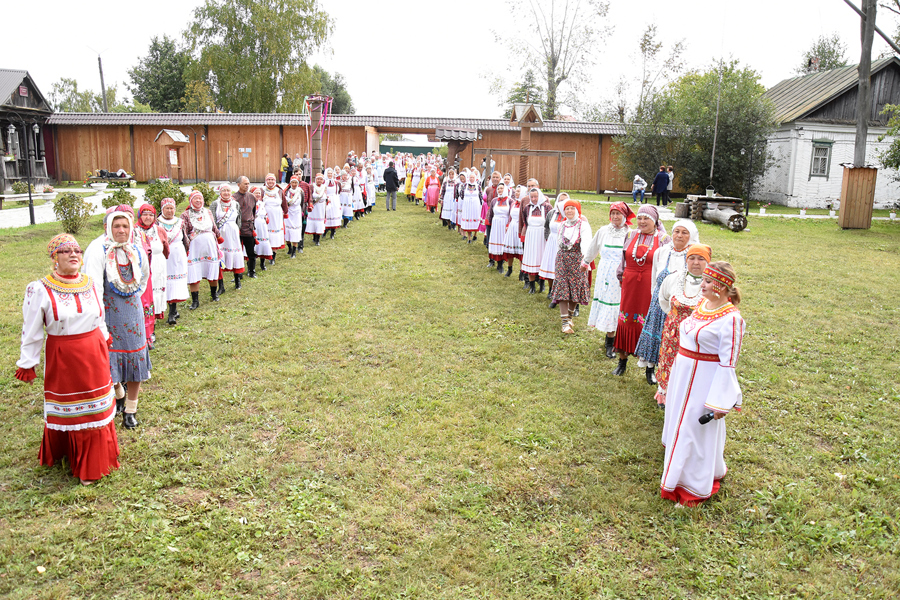
[[[572,317],[575,307],[587,305],[591,301],[591,284],[588,268],[582,267],[581,244],[587,244],[592,237],[587,217],[581,214],[581,203],[576,200],[563,202],[563,221],[557,234],[559,252],[556,254],[556,281],[550,299],[559,305],[562,332],[575,333]]]

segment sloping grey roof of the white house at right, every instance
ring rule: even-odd
[[[900,66],[900,59],[891,56],[872,61],[871,72],[874,75],[890,64]],[[790,123],[809,115],[858,84],[857,65],[850,65],[785,79],[765,95],[775,103],[775,120]]]

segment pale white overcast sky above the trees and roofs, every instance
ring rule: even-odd
[[[155,0],[95,9],[70,0],[7,2],[2,66],[29,71],[48,97],[62,77],[99,91],[100,52],[107,85],[118,83],[122,91],[128,69],[147,53],[150,39],[163,34],[180,39],[200,4]],[[335,32],[330,48],[313,61],[344,75],[361,115],[499,117],[491,79],[501,74],[515,80],[521,63],[511,55],[532,35],[528,15],[511,13],[502,0],[443,3],[452,7],[449,12],[393,0],[321,5],[334,19]],[[801,55],[820,35],[840,34],[852,64],[860,55],[859,18],[844,0],[610,0],[606,21],[614,31],[593,55],[596,64],[585,86],[591,102],[610,97],[622,75],[639,79],[637,46],[653,23],[667,47],[685,40],[688,67],[736,58],[757,70],[766,87],[793,76]],[[897,19],[880,9],[877,22],[892,33]],[[501,45],[492,31],[503,36]],[[873,55],[887,49],[876,34]]]

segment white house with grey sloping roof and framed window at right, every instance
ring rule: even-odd
[[[766,92],[775,103],[780,125],[767,140],[775,164],[766,172],[757,199],[795,207],[824,207],[840,199],[843,167],[853,162],[856,142],[856,101],[859,75],[856,65],[785,79]],[[872,62],[872,113],[866,162],[879,167],[875,205],[900,199],[897,172],[882,169],[878,152],[891,138],[886,104],[900,104],[900,59]]]

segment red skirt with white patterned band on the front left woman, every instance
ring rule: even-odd
[[[38,459],[52,466],[68,457],[75,477],[100,479],[119,467],[106,340],[99,328],[47,336],[45,365],[44,439]]]

